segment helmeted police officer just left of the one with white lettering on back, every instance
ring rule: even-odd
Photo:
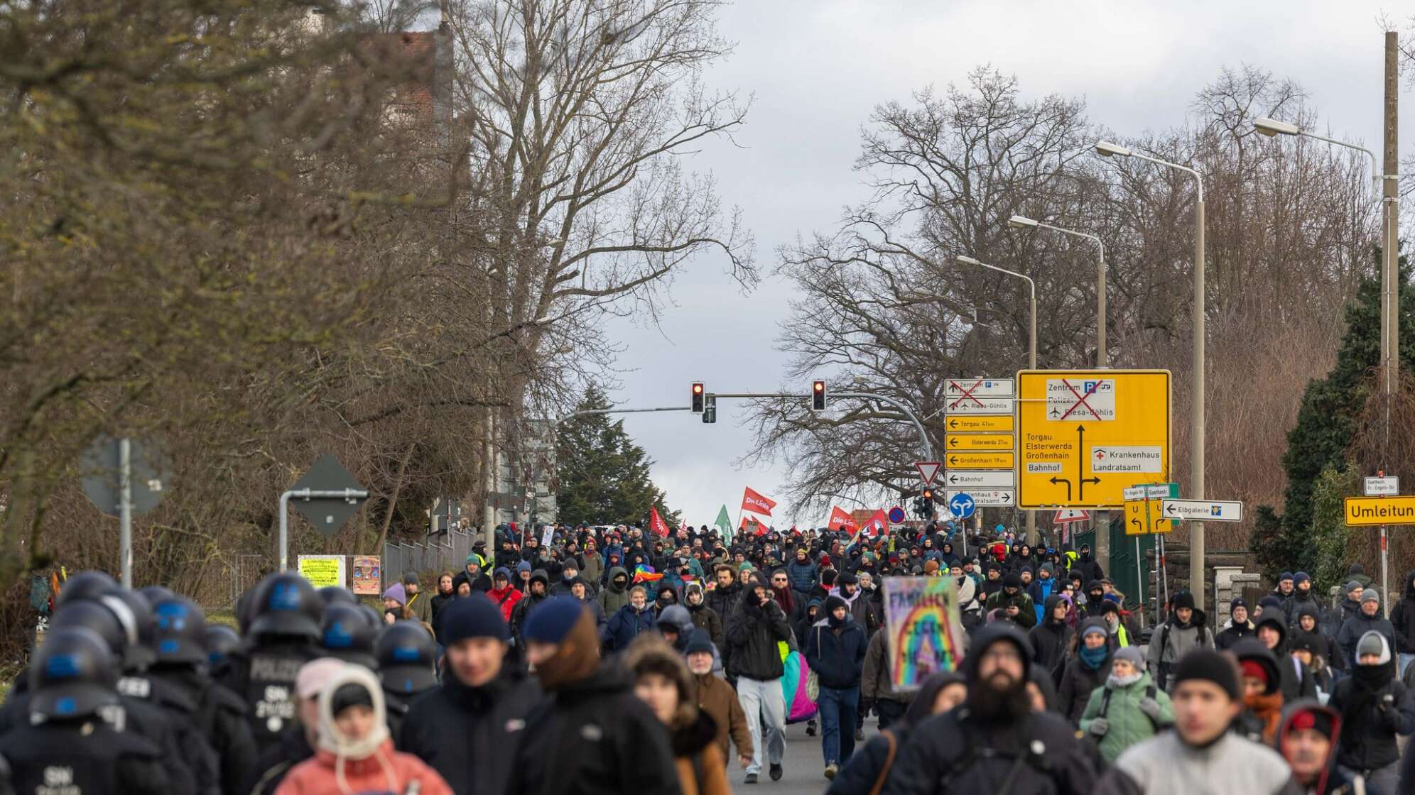
[[[157,656],[149,675],[195,704],[197,730],[221,761],[221,791],[241,791],[256,762],[256,741],[246,721],[246,704],[205,673],[207,615],[191,600],[171,597],[153,605]]]

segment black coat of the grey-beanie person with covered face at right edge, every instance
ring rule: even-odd
[[[1394,671],[1394,661],[1390,665]],[[1350,770],[1375,770],[1397,761],[1399,748],[1395,736],[1415,731],[1415,702],[1398,679],[1385,682],[1363,699],[1353,673],[1336,683],[1327,706],[1341,713],[1341,744],[1336,761]]]

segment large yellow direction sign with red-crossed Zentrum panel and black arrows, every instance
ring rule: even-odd
[[[1017,373],[1017,506],[1119,508],[1169,480],[1169,371]]]

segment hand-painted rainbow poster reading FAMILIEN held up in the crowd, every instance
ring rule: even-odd
[[[896,690],[916,690],[930,673],[958,668],[964,628],[952,577],[884,577],[884,631]]]

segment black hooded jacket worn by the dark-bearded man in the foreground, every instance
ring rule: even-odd
[[[964,659],[969,682],[978,682],[978,659],[988,646],[1010,642],[1030,676],[1027,638],[1006,621],[983,627]],[[1070,795],[1090,792],[1097,770],[1065,720],[1053,713],[983,720],[968,704],[930,717],[900,750],[884,795],[942,795],[998,792],[1010,778],[1009,792]]]

